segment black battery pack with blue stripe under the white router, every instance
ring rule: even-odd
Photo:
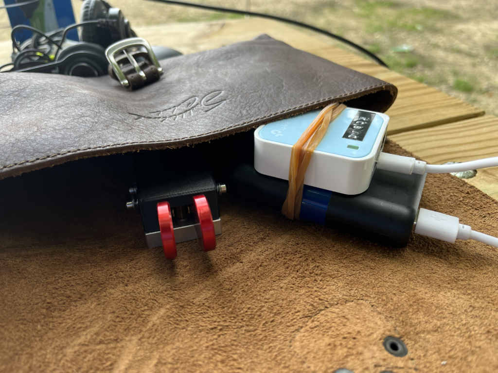
[[[370,187],[356,195],[305,186],[300,217],[392,247],[405,247],[425,177],[376,170]],[[245,163],[234,169],[229,188],[231,194],[280,210],[288,181],[261,175],[252,164]]]

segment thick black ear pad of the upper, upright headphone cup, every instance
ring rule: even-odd
[[[93,21],[100,18],[108,18],[106,4],[101,0],[85,0],[81,5],[81,22]],[[111,31],[103,27],[97,27],[96,25],[82,26],[80,39],[87,43],[100,44],[104,48],[113,43]]]

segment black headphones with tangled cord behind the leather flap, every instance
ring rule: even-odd
[[[58,73],[78,77],[97,77],[108,73],[106,48],[125,38],[136,37],[129,21],[119,8],[105,0],[85,0],[81,7],[81,22],[51,34],[44,34],[30,26],[12,29],[14,47],[19,51],[13,59],[11,71]],[[62,47],[68,31],[81,27],[81,42]],[[13,37],[18,28],[33,31],[33,37],[21,45]],[[58,43],[57,43],[57,39]]]

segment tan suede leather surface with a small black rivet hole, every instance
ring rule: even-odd
[[[167,262],[124,210],[124,157],[0,183],[1,372],[498,371],[497,249],[392,250],[229,189],[217,249]],[[452,176],[429,175],[421,206],[498,235],[497,202]]]

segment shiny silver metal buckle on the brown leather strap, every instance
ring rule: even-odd
[[[127,48],[130,47],[145,47],[148,55],[150,56],[151,62],[154,64],[154,66],[157,68],[157,71],[159,72],[160,75],[164,73],[162,70],[161,66],[159,65],[159,61],[157,61],[157,57],[155,56],[154,52],[152,51],[152,48],[150,44],[147,42],[147,40],[142,39],[142,38],[128,38],[128,39],[123,39],[120,40],[114,44],[111,44],[107,49],[106,49],[106,57],[109,63],[111,64],[111,67],[114,70],[114,73],[118,77],[118,80],[120,81],[121,85],[123,87],[128,88],[129,87],[129,82],[124,76],[123,70],[121,70],[120,65],[116,61],[116,58],[114,57],[116,53],[118,52],[123,52],[130,64],[135,68],[136,72],[140,75],[140,77],[143,79],[143,81],[147,81],[147,78],[145,77],[145,74],[143,71],[140,69],[138,66],[136,60],[133,58],[133,56],[128,53],[126,50]]]

